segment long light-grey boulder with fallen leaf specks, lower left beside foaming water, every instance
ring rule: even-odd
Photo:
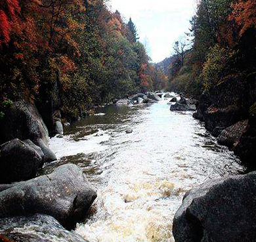
[[[47,214],[67,229],[74,228],[96,198],[83,171],[74,164],[12,186],[0,185],[0,218]]]

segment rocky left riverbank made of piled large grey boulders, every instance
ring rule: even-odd
[[[62,134],[58,111],[53,122],[56,133]],[[0,130],[0,240],[58,241],[64,237],[84,241],[68,230],[85,218],[96,190],[74,164],[35,177],[44,163],[56,161],[49,149],[48,129],[35,106],[14,102],[5,110]],[[26,226],[32,226],[30,232]]]

